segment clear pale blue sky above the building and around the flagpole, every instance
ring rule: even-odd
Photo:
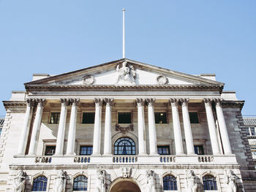
[[[215,73],[256,115],[256,1],[0,0],[0,100],[34,73],[61,74],[122,57],[188,74]],[[0,115],[4,115],[0,105]]]

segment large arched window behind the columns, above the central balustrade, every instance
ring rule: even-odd
[[[121,137],[115,142],[115,155],[136,155],[135,142],[129,137]]]

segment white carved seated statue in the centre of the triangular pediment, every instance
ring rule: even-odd
[[[125,82],[135,85],[135,69],[133,66],[127,66],[127,61],[124,61],[122,67],[116,66],[116,71],[119,73],[116,84],[124,84]]]

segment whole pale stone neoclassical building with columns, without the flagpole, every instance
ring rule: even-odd
[[[4,101],[1,191],[255,191],[244,101],[214,74],[121,59]]]

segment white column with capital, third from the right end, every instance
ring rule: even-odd
[[[193,155],[195,154],[195,150],[194,150],[194,142],[192,137],[192,129],[191,129],[190,119],[189,119],[189,110],[188,110],[189,99],[180,99],[180,101],[181,101],[181,108],[182,108],[184,134],[185,134],[186,145],[187,145],[187,154]]]

